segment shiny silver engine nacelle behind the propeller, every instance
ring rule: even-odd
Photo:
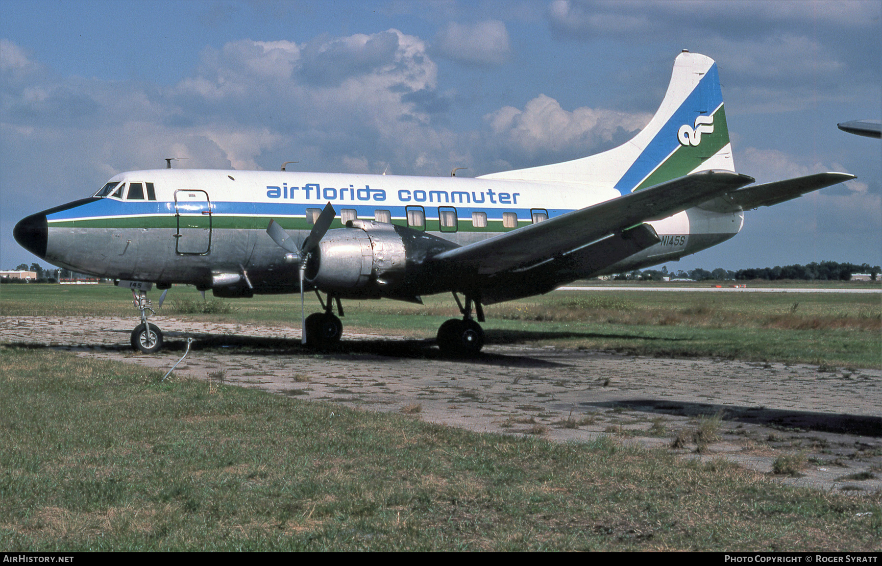
[[[306,279],[327,291],[387,285],[406,266],[405,244],[395,228],[351,220],[345,228],[328,230],[306,264]]]

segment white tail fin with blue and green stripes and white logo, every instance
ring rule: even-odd
[[[735,171],[717,66],[710,57],[676,56],[668,93],[637,136],[607,152],[484,179],[573,182],[626,194],[706,169]]]

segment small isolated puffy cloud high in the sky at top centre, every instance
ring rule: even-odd
[[[508,30],[497,19],[474,24],[450,22],[438,32],[435,49],[448,59],[482,66],[505,63],[512,55]]]

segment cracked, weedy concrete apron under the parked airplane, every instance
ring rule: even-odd
[[[613,434],[669,446],[696,420],[719,414],[720,440],[695,457],[725,457],[769,473],[778,456],[804,452],[802,477],[788,483],[853,493],[882,489],[878,369],[518,346],[487,346],[475,360],[449,360],[433,340],[348,332],[337,351],[314,354],[300,346],[299,328],[151,320],[176,329],[165,331],[167,347],[159,354],[131,351],[134,324],[123,317],[0,317],[0,343],[55,347],[164,373],[191,336],[194,349],[177,376],[555,441]],[[695,446],[678,451],[689,455]]]

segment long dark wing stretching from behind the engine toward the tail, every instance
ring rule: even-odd
[[[666,218],[751,182],[752,177],[729,171],[686,175],[489,240],[445,251],[432,260],[469,266],[475,273],[483,275],[527,267],[644,220]]]

